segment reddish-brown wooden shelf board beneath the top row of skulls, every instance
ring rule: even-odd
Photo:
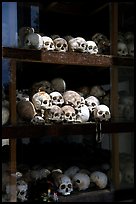
[[[24,62],[41,62],[50,64],[81,65],[95,67],[110,67],[111,65],[132,66],[131,57],[115,57],[111,55],[90,55],[88,53],[55,52],[22,48],[2,48],[3,58],[15,59]]]

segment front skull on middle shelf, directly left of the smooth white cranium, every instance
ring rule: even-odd
[[[62,107],[64,113],[64,121],[66,122],[75,122],[76,121],[76,112],[75,109],[70,105],[65,105]]]

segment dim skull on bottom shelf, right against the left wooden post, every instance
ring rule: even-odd
[[[24,180],[17,181],[17,199],[20,202],[27,201],[28,184]]]

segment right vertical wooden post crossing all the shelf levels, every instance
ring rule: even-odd
[[[118,39],[118,2],[110,3],[110,42],[111,55],[117,55]],[[111,114],[112,118],[118,116],[118,67],[111,66]],[[112,134],[112,178],[115,189],[119,189],[119,135]]]

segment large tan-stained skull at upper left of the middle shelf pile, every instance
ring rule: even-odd
[[[44,111],[51,108],[51,97],[45,91],[39,91],[35,93],[32,97],[32,102],[34,107],[37,110],[40,110],[42,113],[42,117],[44,116]]]

